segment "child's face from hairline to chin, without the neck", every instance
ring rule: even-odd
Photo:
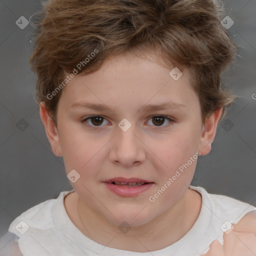
[[[75,169],[80,174],[72,183],[80,199],[110,222],[139,225],[164,213],[187,190],[196,152],[209,151],[205,145],[212,136],[204,132],[189,75],[184,71],[175,81],[169,75],[171,69],[125,53],[108,60],[97,72],[75,76],[62,91],[52,149],[63,155],[67,173]],[[181,106],[143,110],[167,101]],[[86,108],[85,102],[105,109]],[[90,115],[99,118],[85,121]],[[151,183],[123,187],[104,182],[116,177],[117,182],[123,177]]]

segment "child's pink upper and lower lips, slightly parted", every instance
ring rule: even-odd
[[[125,182],[125,183],[145,182],[146,184],[143,184],[140,186],[121,186],[121,185],[112,184],[112,182],[114,181]],[[125,197],[137,196],[143,193],[144,191],[148,190],[154,184],[154,182],[152,181],[135,178],[135,177],[132,177],[132,178],[115,177],[115,178],[106,179],[103,181],[103,183],[111,192],[120,196],[125,196]]]

